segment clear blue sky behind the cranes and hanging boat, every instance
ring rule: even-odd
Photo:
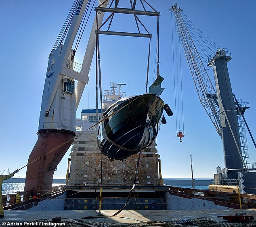
[[[174,111],[173,58],[170,6],[174,1],[148,1],[159,11],[160,75],[164,77],[162,99]],[[176,0],[185,15],[207,37],[222,48],[228,48],[232,60],[228,62],[233,93],[244,102],[250,102],[245,117],[253,135],[256,135],[255,62],[256,53],[256,2],[215,0]],[[28,156],[37,140],[42,91],[48,63],[59,31],[69,12],[72,1],[2,1],[0,8],[0,75],[2,106],[0,118],[0,172],[13,171],[27,164]],[[94,13],[94,12],[93,12]],[[141,18],[151,41],[149,83],[155,76],[156,23]],[[172,18],[174,21],[174,17]],[[134,29],[134,20],[113,21],[117,31]],[[124,29],[125,30],[125,29]],[[76,53],[75,61],[82,63],[86,37]],[[123,91],[128,95],[143,94],[147,70],[149,40],[132,37],[100,37],[103,90],[111,82],[126,83]],[[176,136],[175,117],[166,117],[157,137],[157,149],[162,159],[163,177],[190,177],[190,155],[193,156],[195,178],[213,178],[216,167],[224,167],[222,141],[199,102],[184,51],[181,51],[183,77],[183,108],[185,137],[180,143]],[[207,66],[206,66],[207,67]],[[212,78],[212,68],[208,70]],[[212,82],[214,82],[212,78]],[[86,85],[78,107],[77,117],[83,108],[95,108],[95,59],[92,62],[89,84]],[[249,162],[256,162],[256,151],[250,140]],[[54,177],[65,177],[67,158],[64,156]],[[25,177],[25,168],[15,177]]]

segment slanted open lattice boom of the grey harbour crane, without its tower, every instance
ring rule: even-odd
[[[178,32],[181,42],[187,57],[189,68],[195,83],[199,100],[210,117],[217,133],[221,135],[220,115],[218,111],[218,102],[216,92],[206,72],[203,62],[195,48],[193,40],[189,34],[185,21],[183,20],[180,12],[180,7],[177,4],[172,6],[170,10],[174,13]]]

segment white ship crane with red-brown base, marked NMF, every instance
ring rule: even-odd
[[[49,55],[38,140],[29,156],[25,181],[25,191],[37,195],[52,190],[53,173],[76,135],[76,110],[89,80],[88,73],[96,46],[94,31],[97,25],[101,25],[104,16],[104,12],[101,12],[97,21],[96,18],[94,20],[82,65],[74,62],[75,50],[72,48],[79,29],[83,31],[85,18],[89,17],[88,2],[74,2]],[[105,7],[108,2],[100,0],[99,5]],[[78,81],[76,87],[75,81]]]

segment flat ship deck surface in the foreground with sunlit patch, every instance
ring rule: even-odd
[[[82,226],[81,223],[86,222],[86,226],[90,222],[94,223],[113,223],[111,226],[116,224],[132,224],[132,223],[147,223],[154,224],[154,226],[179,226],[176,225],[178,222],[195,222],[195,221],[205,221],[205,222],[216,222],[216,223],[226,223],[222,218],[217,216],[222,215],[235,215],[240,213],[238,209],[223,209],[223,210],[123,210],[118,215],[113,217],[116,210],[103,210],[101,211],[103,216],[98,216],[94,210],[38,210],[38,211],[21,211],[21,210],[6,210],[5,217],[0,219],[0,226],[2,222],[5,222],[5,226],[9,222],[18,222],[22,223],[26,221],[27,223],[36,223],[37,220],[44,223],[52,223],[52,218],[61,218],[58,219],[58,222],[65,223],[65,226]],[[256,209],[243,209],[243,212],[246,215],[253,215],[256,218]],[[156,222],[166,222],[166,225],[156,225]],[[115,224],[114,224],[115,223]],[[176,223],[176,224],[175,224]],[[81,225],[80,225],[81,224]],[[163,224],[163,223],[162,223]],[[32,224],[33,225],[33,224]],[[38,225],[38,226],[41,226]],[[48,224],[51,225],[51,224]],[[4,226],[2,224],[2,226]],[[43,225],[42,225],[43,226]],[[57,226],[57,225],[55,225]],[[92,225],[93,226],[93,225]],[[109,225],[105,225],[109,226]],[[117,225],[122,226],[122,225]],[[127,226],[127,225],[126,225]],[[143,226],[143,225],[142,225]],[[200,225],[201,226],[201,225]],[[204,226],[204,225],[202,225]],[[207,225],[205,225],[207,226]],[[224,225],[225,226],[225,225]],[[256,221],[249,221],[247,223],[233,223],[230,226],[256,226]]]

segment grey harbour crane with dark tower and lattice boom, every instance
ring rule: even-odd
[[[180,39],[189,63],[189,68],[197,89],[201,104],[222,138],[225,161],[225,178],[238,179],[238,174],[248,172],[241,154],[239,124],[227,62],[231,59],[228,51],[218,49],[213,57],[208,58],[208,66],[214,68],[216,91],[195,48],[191,35],[175,4],[170,8],[174,12]]]

